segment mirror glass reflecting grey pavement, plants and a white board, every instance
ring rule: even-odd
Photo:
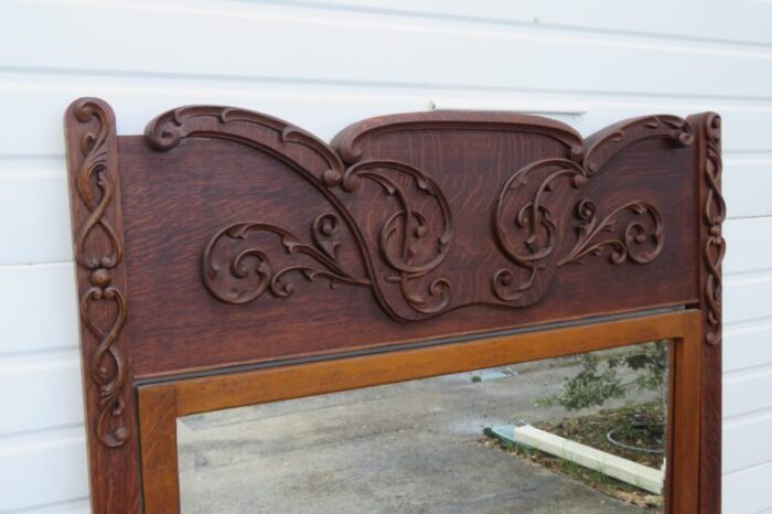
[[[182,512],[662,512],[671,344],[187,416]]]

